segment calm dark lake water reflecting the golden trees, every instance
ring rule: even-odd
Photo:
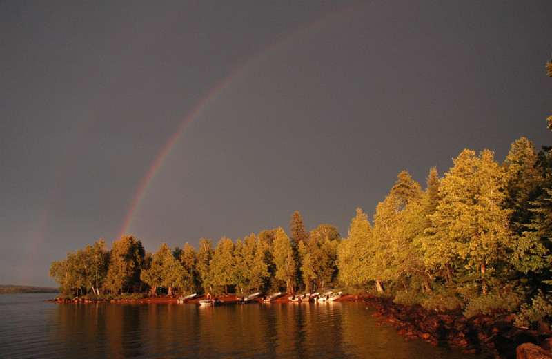
[[[405,342],[366,304],[57,304],[0,295],[2,358],[476,358]]]

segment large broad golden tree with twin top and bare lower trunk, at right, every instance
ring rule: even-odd
[[[496,273],[507,262],[511,244],[509,215],[504,209],[504,170],[494,153],[484,150],[479,157],[464,150],[441,181],[440,204],[431,215],[433,226],[426,246],[426,260],[432,266],[479,271],[480,290],[486,294],[489,269]],[[449,278],[450,280],[450,278]]]

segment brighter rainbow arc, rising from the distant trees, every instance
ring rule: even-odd
[[[126,214],[126,217],[124,218],[123,225],[121,226],[121,231],[119,231],[119,238],[123,235],[130,234],[130,229],[132,227],[132,222],[135,220],[135,217],[139,211],[141,202],[144,200],[144,197],[146,196],[146,193],[148,193],[148,189],[150,188],[153,180],[157,176],[157,173],[159,173],[160,168],[163,166],[164,162],[166,162],[166,159],[168,155],[170,155],[172,149],[175,147],[177,142],[179,142],[180,137],[188,128],[190,124],[193,123],[199,115],[205,110],[209,104],[211,104],[215,99],[217,98],[217,95],[221,93],[224,88],[230,86],[230,84],[233,83],[233,81],[246,72],[250,66],[253,66],[254,64],[257,64],[261,59],[264,59],[265,57],[268,57],[268,55],[273,54],[277,49],[282,48],[287,43],[293,42],[295,39],[299,37],[304,37],[307,35],[311,35],[315,30],[319,30],[323,28],[324,26],[328,25],[329,23],[332,23],[333,21],[336,21],[336,19],[343,19],[346,15],[349,14],[355,14],[359,7],[364,6],[365,4],[361,5],[354,5],[354,6],[348,6],[346,8],[342,8],[338,12],[331,12],[329,14],[326,14],[322,17],[319,17],[318,19],[315,19],[311,23],[307,23],[306,25],[298,28],[297,30],[290,32],[288,35],[284,36],[282,39],[279,39],[275,41],[274,43],[270,44],[269,46],[266,46],[263,50],[261,50],[257,55],[254,55],[252,58],[248,59],[244,62],[239,68],[237,68],[234,72],[230,73],[226,78],[224,78],[213,90],[202,99],[195,108],[193,108],[192,112],[188,117],[184,119],[184,121],[181,123],[181,125],[177,128],[175,133],[173,133],[166,144],[163,146],[161,152],[155,160],[153,161],[152,165],[150,166],[148,172],[144,176],[144,179],[142,179],[141,184],[139,185],[135,196],[132,198],[132,202],[130,204],[130,207],[128,209],[128,213]]]

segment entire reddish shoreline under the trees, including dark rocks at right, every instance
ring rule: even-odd
[[[293,303],[288,300],[290,293],[271,302]],[[179,297],[157,296],[128,300],[46,300],[57,303],[139,303],[139,304],[177,304]],[[199,304],[205,298],[201,295],[184,304]],[[239,296],[235,294],[217,295],[213,299],[222,304],[237,304]],[[251,302],[262,302],[263,297]],[[338,302],[365,302],[375,309],[373,317],[378,326],[391,325],[404,340],[422,340],[430,345],[459,350],[462,353],[490,353],[495,358],[534,358],[522,356],[519,351],[538,351],[539,358],[552,358],[552,331],[549,322],[539,322],[536,329],[515,327],[513,314],[502,316],[475,316],[466,318],[462,311],[433,311],[419,305],[406,306],[396,304],[386,298],[370,295],[344,295]]]

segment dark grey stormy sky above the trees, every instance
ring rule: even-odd
[[[197,248],[297,210],[345,237],[403,170],[425,188],[464,148],[552,144],[551,19],[550,1],[1,1],[0,284],[55,286],[52,261],[122,233]]]

